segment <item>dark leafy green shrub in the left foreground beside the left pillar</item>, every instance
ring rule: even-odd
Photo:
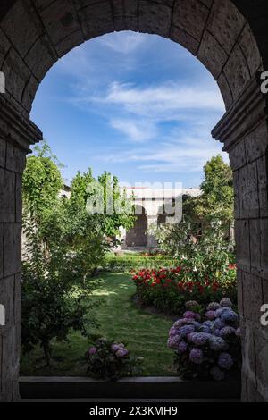
[[[28,352],[40,344],[49,365],[53,339],[67,341],[71,329],[87,333],[86,315],[92,307],[88,297],[94,284],[84,288],[75,285],[80,270],[61,242],[54,242],[46,255],[38,227],[29,223],[25,231],[28,241],[22,271],[22,349]]]

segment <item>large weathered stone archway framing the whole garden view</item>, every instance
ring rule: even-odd
[[[170,38],[205,64],[226,113],[213,130],[230,153],[236,194],[243,399],[268,400],[266,98],[258,71],[268,61],[268,5],[249,0],[3,0],[0,5],[0,399],[18,399],[21,323],[21,173],[29,145],[42,139],[29,120],[46,72],[85,40],[130,29]]]

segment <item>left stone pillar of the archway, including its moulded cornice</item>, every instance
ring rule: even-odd
[[[21,174],[38,128],[0,95],[0,401],[19,399],[21,347]]]

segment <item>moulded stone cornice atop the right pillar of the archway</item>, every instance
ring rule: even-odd
[[[257,125],[267,119],[266,98],[261,92],[258,74],[247,83],[243,94],[212,130],[214,139],[224,143],[229,152]]]

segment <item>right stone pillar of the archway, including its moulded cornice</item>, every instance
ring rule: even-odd
[[[260,321],[261,307],[268,303],[268,126],[257,77],[222,117],[213,136],[224,143],[234,172],[242,399],[268,401],[268,327]]]

